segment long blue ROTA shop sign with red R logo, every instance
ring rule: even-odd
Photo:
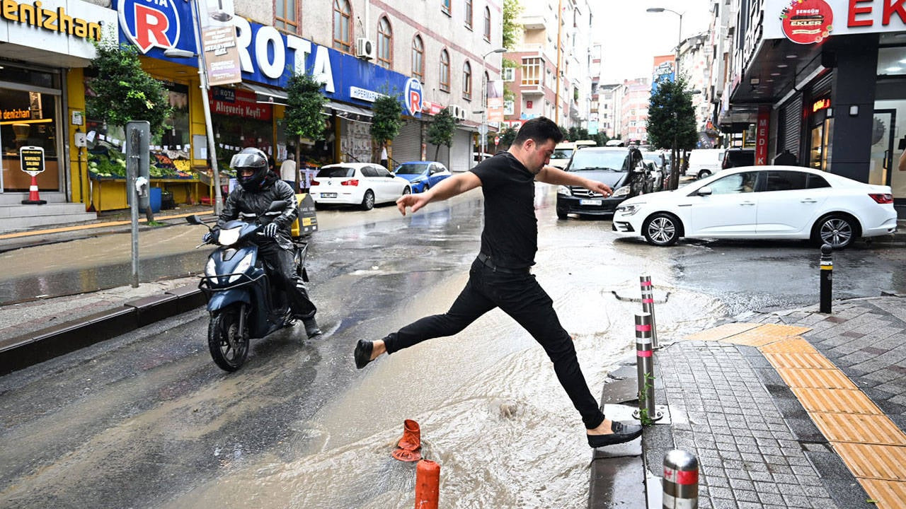
[[[120,14],[120,41],[135,44],[142,53],[152,58],[196,66],[195,59],[171,59],[164,50],[177,48],[196,51],[192,16],[192,3],[183,0],[114,0]],[[236,15],[236,46],[242,78],[245,82],[258,82],[285,88],[294,72],[309,72],[324,83],[325,96],[337,101],[361,104],[368,101],[352,96],[353,88],[381,91],[400,91],[404,110],[412,113],[410,105],[420,103],[413,95],[410,79],[399,72],[392,72],[379,65],[362,61],[351,54],[321,46],[302,37],[282,34],[273,26],[249,22]],[[420,88],[420,87],[419,87]]]

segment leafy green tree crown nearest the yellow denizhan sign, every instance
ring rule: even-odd
[[[163,84],[141,69],[138,48],[106,39],[95,48],[91,68],[97,77],[89,85],[95,95],[86,98],[88,117],[113,126],[148,120],[151,133],[159,136],[173,108]]]

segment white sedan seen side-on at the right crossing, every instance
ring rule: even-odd
[[[651,245],[679,237],[812,239],[842,249],[896,231],[891,187],[793,166],[732,168],[673,191],[632,197],[613,230]]]

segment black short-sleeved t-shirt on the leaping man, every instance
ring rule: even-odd
[[[487,158],[470,171],[481,179],[485,194],[481,252],[501,267],[534,265],[538,250],[535,176],[509,152]]]

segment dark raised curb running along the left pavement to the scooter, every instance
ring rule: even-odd
[[[123,303],[119,308],[0,341],[0,376],[135,331],[204,304],[205,296],[197,287],[180,286],[159,296],[143,297]]]

